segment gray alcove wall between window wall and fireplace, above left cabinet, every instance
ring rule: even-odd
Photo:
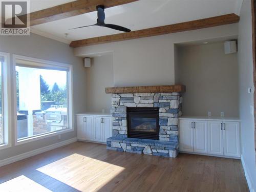
[[[111,94],[105,93],[106,87],[114,86],[113,55],[92,58],[91,67],[86,69],[87,111],[110,112]]]

